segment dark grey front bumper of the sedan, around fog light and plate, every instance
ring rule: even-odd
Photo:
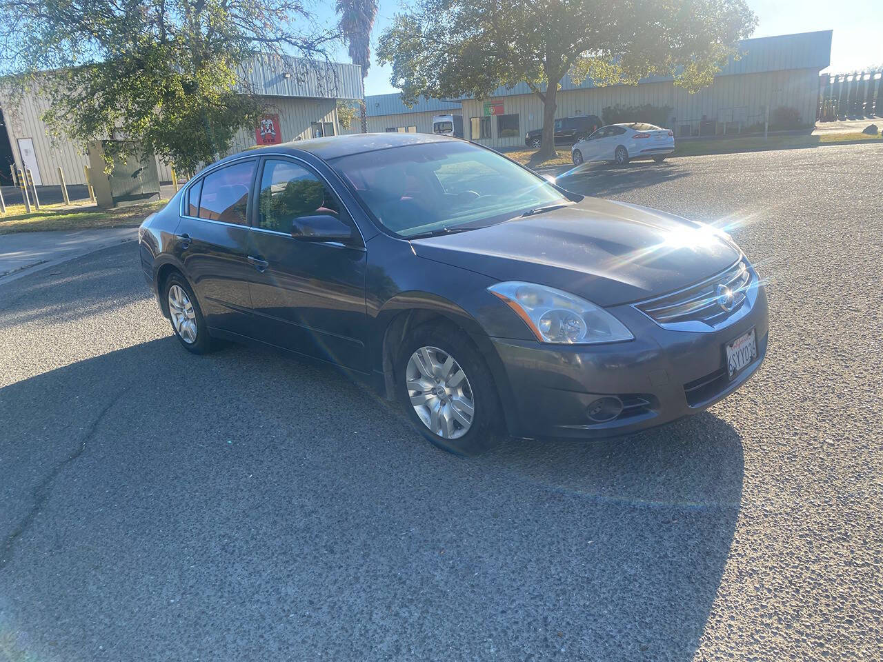
[[[492,338],[509,384],[502,395],[509,433],[529,438],[596,439],[635,433],[705,410],[736,391],[766,357],[766,291],[751,310],[711,332],[660,327],[632,305],[611,309],[635,336],[629,342],[548,345]],[[757,358],[728,378],[724,345],[755,329]],[[587,409],[615,395],[625,408],[595,423]],[[508,396],[508,397],[507,397]],[[509,402],[507,402],[509,401]],[[515,429],[513,429],[513,427]]]

